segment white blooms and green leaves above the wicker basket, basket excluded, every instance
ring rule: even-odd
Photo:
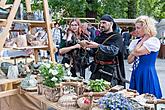
[[[54,64],[52,62],[42,63],[39,71],[43,77],[43,85],[51,88],[56,87],[64,77],[62,64]]]

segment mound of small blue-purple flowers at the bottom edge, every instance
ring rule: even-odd
[[[121,93],[109,92],[99,99],[102,110],[134,110],[130,100]]]

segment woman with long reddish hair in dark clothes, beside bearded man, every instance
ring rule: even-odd
[[[60,44],[59,53],[63,55],[62,63],[72,65],[71,73],[73,77],[82,76],[85,78],[85,69],[89,61],[88,52],[81,48],[79,42],[81,40],[89,40],[81,29],[79,19],[72,19],[66,35]]]

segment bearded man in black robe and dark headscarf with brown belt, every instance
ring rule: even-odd
[[[117,24],[110,15],[104,15],[100,20],[100,35],[95,41],[82,41],[81,46],[91,48],[94,62],[91,65],[91,78],[104,79],[112,86],[125,85],[123,61],[123,40],[116,32]]]

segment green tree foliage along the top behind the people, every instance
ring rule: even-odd
[[[8,3],[13,0],[7,0]],[[42,0],[33,0],[33,10],[42,9]],[[88,2],[92,3],[88,3]],[[48,0],[49,7],[54,12],[54,18],[87,17],[87,10],[97,13],[95,18],[110,14],[114,18],[136,18],[140,15],[153,16],[156,19],[165,18],[165,0]],[[22,0],[25,3],[25,0]]]

